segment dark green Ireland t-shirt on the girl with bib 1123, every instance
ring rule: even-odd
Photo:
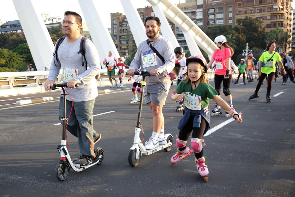
[[[208,83],[199,84],[196,89],[192,89],[191,83],[184,84],[182,80],[175,88],[180,94],[183,93],[184,97],[201,97],[201,108],[205,108],[209,105],[209,99],[214,98],[218,93]],[[193,84],[194,85],[194,84]],[[192,90],[192,91],[191,91]]]

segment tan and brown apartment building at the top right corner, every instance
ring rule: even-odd
[[[235,25],[237,19],[259,18],[265,23],[265,31],[280,27],[283,31],[292,33],[293,0],[235,0]]]

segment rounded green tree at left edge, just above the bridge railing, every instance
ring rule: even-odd
[[[0,68],[6,68],[11,71],[27,71],[27,65],[24,64],[24,58],[5,48],[0,48]]]

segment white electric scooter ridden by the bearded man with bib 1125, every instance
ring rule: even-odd
[[[140,162],[140,157],[141,155],[150,155],[153,154],[154,152],[157,152],[159,150],[164,149],[165,152],[169,152],[172,149],[172,144],[173,144],[173,137],[170,133],[165,134],[165,140],[166,144],[159,144],[157,147],[146,150],[145,146],[142,144],[142,140],[140,139],[140,118],[141,118],[141,110],[142,110],[142,102],[143,102],[143,94],[145,90],[145,77],[146,76],[151,76],[146,70],[135,72],[135,75],[142,75],[142,96],[140,97],[140,102],[139,102],[139,111],[138,111],[138,118],[137,118],[137,125],[135,127],[135,136],[134,136],[134,142],[133,146],[130,148],[129,156],[128,156],[128,162],[132,167],[135,167],[138,165]]]

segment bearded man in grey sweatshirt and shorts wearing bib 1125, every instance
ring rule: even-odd
[[[147,44],[147,40],[140,43],[136,55],[132,60],[127,74],[134,75],[134,72],[141,67],[147,70],[150,75],[146,78],[147,86],[144,92],[145,102],[150,105],[153,113],[153,133],[150,139],[145,142],[145,149],[153,149],[159,144],[166,144],[164,134],[163,105],[171,86],[169,73],[175,66],[173,47],[167,39],[159,34],[161,28],[158,17],[145,19],[145,33],[150,44],[164,58],[164,62]]]

